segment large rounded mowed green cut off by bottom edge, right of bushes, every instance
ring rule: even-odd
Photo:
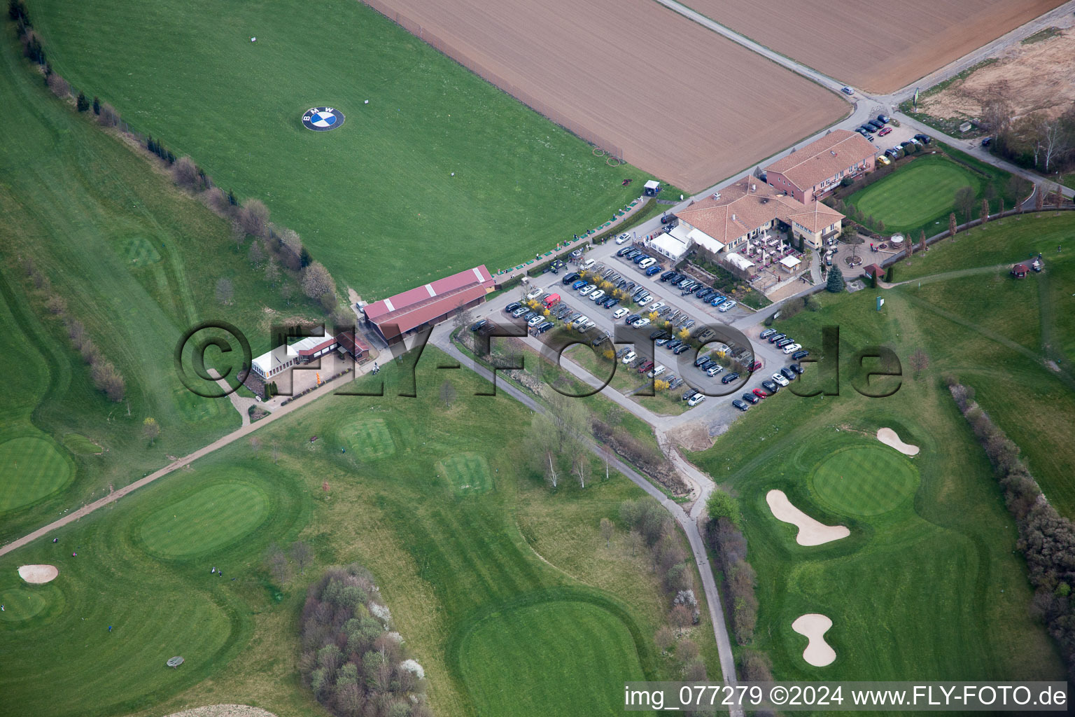
[[[601,605],[568,600],[486,617],[463,639],[460,666],[479,716],[615,714],[624,707],[620,683],[645,679],[624,622]],[[550,703],[558,692],[588,693],[589,702]]]

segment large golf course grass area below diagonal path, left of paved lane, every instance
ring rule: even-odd
[[[260,450],[245,441],[232,444],[60,531],[59,546],[43,542],[0,559],[0,575],[37,561],[61,571],[52,587],[34,588],[46,598],[45,612],[18,626],[0,622],[0,649],[15,656],[0,670],[0,692],[38,714],[44,713],[35,700],[45,699],[55,715],[167,714],[215,702],[321,714],[298,680],[297,616],[320,568],[352,560],[377,576],[399,630],[426,668],[438,714],[519,714],[496,707],[499,692],[515,690],[528,696],[527,709],[594,714],[594,679],[672,678],[672,664],[650,642],[666,607],[649,559],[630,555],[622,529],[610,547],[599,532],[601,517],[618,522],[619,503],[641,491],[615,474],[602,481],[594,462],[585,490],[561,485],[550,492],[519,455],[529,411],[506,398],[473,396],[488,385],[462,372],[450,372],[459,398],[445,408],[438,391],[445,372],[432,369],[443,356],[426,353],[417,399],[396,398],[392,363],[381,374],[388,376],[385,398],[322,399],[267,427],[258,434]],[[392,453],[340,451],[354,435],[356,412],[384,420]],[[314,434],[319,439],[311,443]],[[280,448],[277,464],[272,444]],[[485,457],[490,490],[460,496],[435,476],[439,461],[468,451]],[[238,535],[226,519],[230,508],[214,497],[247,486],[268,500],[268,517]],[[191,513],[196,504],[205,507]],[[181,511],[197,516],[182,528],[191,533],[187,541],[197,536],[215,547],[174,559],[150,554],[145,541],[169,535],[146,521]],[[270,542],[297,536],[313,545],[316,564],[278,591],[259,568],[260,555]],[[64,557],[74,546],[78,557]],[[211,575],[213,565],[225,577]],[[0,592],[18,587],[17,578],[4,580]],[[557,613],[559,606],[567,611],[561,625],[543,623],[535,632],[532,622],[511,622],[510,631],[487,634],[487,620],[503,611]],[[116,632],[109,635],[108,625]],[[715,670],[712,628],[703,621],[693,631]],[[578,634],[592,636],[596,662],[582,663],[589,659],[584,653],[538,661]],[[518,656],[511,671],[503,669],[501,647]],[[162,668],[174,654],[187,658],[176,673]],[[108,670],[112,660],[132,666]],[[476,673],[484,676],[468,677]],[[590,679],[580,680],[582,674]],[[69,687],[83,675],[80,689]],[[57,688],[43,692],[41,679],[53,678]]]

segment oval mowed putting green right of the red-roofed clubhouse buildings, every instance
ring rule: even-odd
[[[863,216],[884,221],[886,231],[911,231],[937,217],[947,218],[961,187],[973,187],[977,195],[981,185],[981,177],[950,159],[919,157],[855,192],[847,203]]]

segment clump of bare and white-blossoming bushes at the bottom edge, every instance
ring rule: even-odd
[[[340,717],[431,717],[425,671],[391,631],[391,614],[361,565],[328,571],[306,591],[299,670]]]

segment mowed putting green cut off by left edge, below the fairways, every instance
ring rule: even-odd
[[[40,436],[0,443],[0,513],[29,505],[66,486],[74,476],[70,459]]]

